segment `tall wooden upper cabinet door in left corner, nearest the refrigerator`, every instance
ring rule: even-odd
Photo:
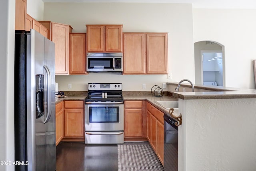
[[[69,27],[52,23],[52,41],[55,43],[55,74],[68,75],[69,73]]]

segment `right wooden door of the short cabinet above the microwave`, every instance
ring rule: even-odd
[[[106,26],[106,52],[122,52],[122,26]]]

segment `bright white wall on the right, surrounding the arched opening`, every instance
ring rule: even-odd
[[[193,9],[194,42],[224,45],[225,86],[255,88],[256,10]]]

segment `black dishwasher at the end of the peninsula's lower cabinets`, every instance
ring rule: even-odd
[[[164,171],[178,171],[178,126],[164,115]]]

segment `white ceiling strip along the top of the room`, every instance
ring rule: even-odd
[[[256,0],[42,0],[43,2],[182,3],[193,8],[256,9]]]

